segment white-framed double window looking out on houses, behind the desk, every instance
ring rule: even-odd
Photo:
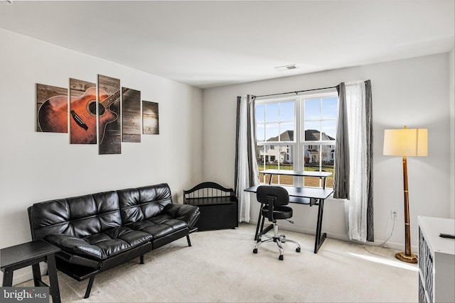
[[[338,94],[307,94],[256,101],[259,171],[311,170],[333,172]],[[261,182],[269,175],[259,174]],[[275,184],[321,187],[314,177],[274,176]],[[327,178],[333,187],[333,175]]]

